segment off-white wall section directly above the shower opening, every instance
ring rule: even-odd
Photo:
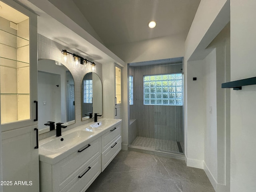
[[[109,49],[126,63],[184,56],[185,34],[176,34],[140,42],[110,46]]]

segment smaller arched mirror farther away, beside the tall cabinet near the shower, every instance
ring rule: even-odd
[[[102,115],[102,83],[99,76],[90,72],[84,75],[81,88],[82,120]]]

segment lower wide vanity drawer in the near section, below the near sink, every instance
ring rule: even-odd
[[[84,192],[101,172],[100,155],[90,164],[79,168],[75,176],[60,192]]]

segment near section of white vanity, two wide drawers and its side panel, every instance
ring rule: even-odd
[[[100,155],[99,137],[56,164],[40,161],[40,192],[84,192],[101,172]]]

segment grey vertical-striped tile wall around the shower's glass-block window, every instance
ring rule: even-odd
[[[173,141],[184,141],[183,106],[156,106],[143,104],[143,76],[181,72],[182,64],[130,66],[133,76],[134,101],[130,105],[130,119],[137,119],[138,136]]]

